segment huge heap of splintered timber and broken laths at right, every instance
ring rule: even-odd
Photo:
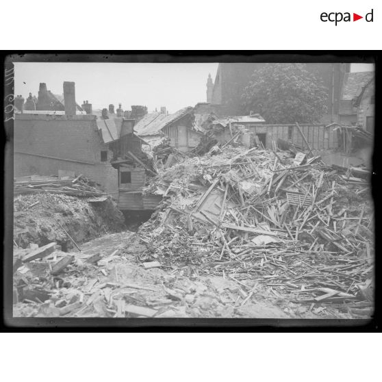
[[[329,304],[370,316],[369,175],[255,148],[184,160],[146,190],[164,199],[138,231],[147,246],[141,257],[185,276],[258,281],[309,310]]]

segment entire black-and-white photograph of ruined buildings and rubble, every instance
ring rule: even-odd
[[[372,319],[372,57],[27,56],[13,318]]]

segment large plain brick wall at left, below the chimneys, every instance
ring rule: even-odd
[[[101,162],[107,151],[107,162]],[[14,120],[14,176],[58,175],[71,170],[118,194],[118,173],[112,153],[101,140],[95,116],[18,114]]]

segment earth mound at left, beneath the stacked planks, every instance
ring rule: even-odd
[[[51,193],[14,198],[14,242],[21,248],[29,243],[43,246],[58,242],[68,250],[73,244],[64,229],[77,244],[82,244],[105,233],[122,231],[124,221],[111,199],[90,203],[75,196]]]

